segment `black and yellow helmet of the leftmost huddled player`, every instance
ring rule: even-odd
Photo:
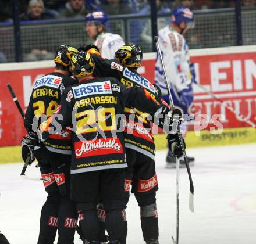
[[[67,67],[69,66],[71,55],[78,52],[79,51],[76,48],[73,48],[72,46],[66,44],[62,44],[56,50],[54,62],[60,63],[63,66]]]

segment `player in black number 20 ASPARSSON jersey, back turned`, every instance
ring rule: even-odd
[[[126,87],[112,77],[93,77],[94,62],[88,53],[73,55],[72,66],[79,84],[63,92],[42,138],[58,132],[51,130],[55,119],[61,128],[72,123],[71,198],[77,203],[84,235],[89,243],[99,243],[96,205],[101,199],[109,243],[120,243],[127,167],[120,119],[125,106],[136,107],[152,117],[161,113],[166,116],[169,109],[157,98],[148,98],[145,89]]]

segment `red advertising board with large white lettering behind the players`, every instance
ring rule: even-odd
[[[143,56],[140,73],[154,82],[155,53],[144,53]],[[202,130],[218,127],[215,115],[219,116],[217,120],[224,128],[250,126],[237,119],[237,116],[226,109],[226,105],[233,107],[237,113],[256,124],[256,45],[197,49],[191,50],[190,56],[191,61],[195,63],[197,81],[223,101],[221,103],[212,99],[198,86],[194,86],[194,104],[197,112],[207,116],[208,124]],[[6,84],[12,84],[20,105],[25,111],[35,80],[53,69],[53,61],[0,64],[0,147],[20,145],[25,133],[22,117],[10,97]],[[193,124],[189,125],[189,130],[194,130]],[[188,137],[189,135],[190,133]],[[219,145],[219,138],[222,138],[222,141],[224,137],[229,137],[229,135],[223,134],[215,137],[204,135],[203,142],[200,139],[192,141],[196,145],[205,144],[208,141]],[[231,141],[240,140],[240,136],[234,135],[234,137]],[[251,133],[246,134],[245,137],[250,138]],[[13,153],[10,152],[10,155]]]

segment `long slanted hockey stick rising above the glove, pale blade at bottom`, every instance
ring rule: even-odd
[[[162,69],[163,69],[163,76],[165,77],[165,84],[166,84],[166,87],[168,88],[167,90],[168,90],[168,95],[169,95],[170,103],[171,103],[172,107],[174,107],[174,103],[173,103],[173,99],[172,99],[172,94],[170,93],[170,85],[169,85],[167,73],[166,73],[166,70],[165,70],[165,65],[163,63],[163,58],[162,58],[162,53],[161,53],[160,45],[159,45],[159,42],[158,42],[158,37],[155,36],[154,40],[155,40],[155,44],[156,44],[156,47],[157,47],[158,55],[159,55],[159,58],[160,58],[161,66],[162,66]],[[182,152],[183,152],[183,156],[184,156],[184,162],[185,162],[186,168],[187,168],[187,174],[189,175],[189,182],[190,182],[189,208],[193,212],[194,211],[194,184],[193,184],[193,180],[192,180],[192,177],[191,177],[189,163],[187,162],[187,154],[186,154],[184,142],[183,142],[183,139],[182,139],[182,135],[180,134],[179,131],[178,131],[178,135],[179,135],[180,146],[182,147]]]

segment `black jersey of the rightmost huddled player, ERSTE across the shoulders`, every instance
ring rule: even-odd
[[[154,85],[140,74],[129,70],[123,64],[115,59],[103,59],[98,55],[92,55],[95,63],[94,76],[115,77],[122,84],[133,87],[138,85],[147,91],[147,98],[152,99],[156,103],[161,102],[157,98]],[[140,98],[138,98],[140,99]],[[155,143],[151,133],[151,124],[148,121],[149,114],[143,113],[138,107],[125,108],[126,114],[126,135],[125,146],[143,153],[144,155],[155,158]]]

